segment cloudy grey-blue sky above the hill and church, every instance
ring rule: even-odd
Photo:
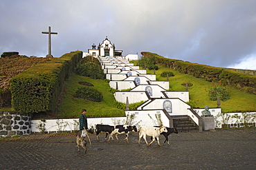
[[[108,37],[123,55],[154,52],[256,70],[255,0],[1,0],[0,54],[55,57]]]

